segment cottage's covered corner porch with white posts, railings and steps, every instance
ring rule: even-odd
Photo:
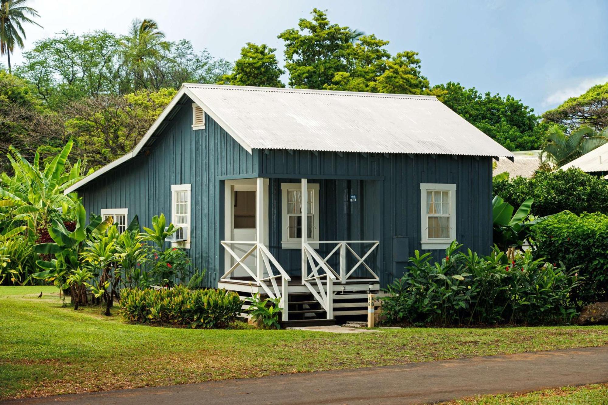
[[[378,182],[227,179],[218,286],[280,297],[283,321],[367,314],[381,281]]]

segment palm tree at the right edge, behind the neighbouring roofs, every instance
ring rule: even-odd
[[[561,167],[607,142],[606,131],[598,135],[592,128],[581,126],[568,135],[559,125],[553,125],[541,148],[541,167],[545,170]]]

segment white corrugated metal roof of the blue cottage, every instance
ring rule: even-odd
[[[184,88],[247,149],[513,156],[434,96]]]

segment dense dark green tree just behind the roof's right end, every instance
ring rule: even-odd
[[[537,125],[534,109],[511,95],[480,94],[475,88],[465,89],[452,81],[434,86],[431,92],[508,150],[535,150],[544,141],[546,125]]]

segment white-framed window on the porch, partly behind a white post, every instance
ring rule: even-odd
[[[308,184],[308,241],[319,241],[319,184]],[[302,247],[302,184],[283,183],[283,249]],[[317,244],[311,244],[317,247]]]

